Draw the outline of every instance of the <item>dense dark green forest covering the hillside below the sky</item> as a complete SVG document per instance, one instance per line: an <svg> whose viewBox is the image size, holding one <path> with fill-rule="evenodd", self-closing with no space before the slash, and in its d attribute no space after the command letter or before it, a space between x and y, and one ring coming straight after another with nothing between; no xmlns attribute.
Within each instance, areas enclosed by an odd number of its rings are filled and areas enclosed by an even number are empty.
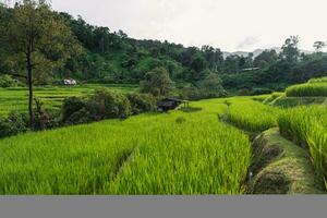
<svg viewBox="0 0 327 218"><path fill-rule="evenodd" d="M12 22L14 8L0 5L0 29L5 32ZM177 87L196 87L213 78L222 81L226 89L242 94L281 90L289 84L327 75L327 55L320 52L323 41L316 41L316 52L301 53L300 38L291 36L282 45L281 52L265 50L257 57L231 55L223 58L219 48L211 46L184 47L168 41L137 40L123 31L111 32L108 27L93 26L81 16L51 12L61 20L77 39L82 52L68 57L64 64L43 68L34 76L34 84L56 84L72 77L85 83L138 84L147 72L165 69ZM2 34L1 34L2 35ZM0 73L22 81L25 65L13 60L7 49L7 39L0 37ZM51 58L56 59L56 55ZM22 81L24 83L24 81Z"/></svg>

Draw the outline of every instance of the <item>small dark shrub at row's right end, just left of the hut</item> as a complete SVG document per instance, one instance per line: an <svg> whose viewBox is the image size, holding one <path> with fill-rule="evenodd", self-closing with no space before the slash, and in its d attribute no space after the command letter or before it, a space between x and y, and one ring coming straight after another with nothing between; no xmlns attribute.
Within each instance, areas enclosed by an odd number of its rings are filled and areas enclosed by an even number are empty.
<svg viewBox="0 0 327 218"><path fill-rule="evenodd" d="M150 94L129 94L128 99L131 104L133 114L152 112L156 110L156 99Z"/></svg>

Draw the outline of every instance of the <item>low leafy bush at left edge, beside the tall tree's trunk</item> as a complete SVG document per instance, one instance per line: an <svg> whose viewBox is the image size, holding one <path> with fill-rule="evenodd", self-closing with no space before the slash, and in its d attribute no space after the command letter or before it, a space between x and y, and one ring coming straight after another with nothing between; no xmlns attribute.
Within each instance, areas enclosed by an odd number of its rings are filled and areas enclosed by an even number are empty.
<svg viewBox="0 0 327 218"><path fill-rule="evenodd" d="M0 118L0 138L26 132L27 114L11 112L8 118Z"/></svg>

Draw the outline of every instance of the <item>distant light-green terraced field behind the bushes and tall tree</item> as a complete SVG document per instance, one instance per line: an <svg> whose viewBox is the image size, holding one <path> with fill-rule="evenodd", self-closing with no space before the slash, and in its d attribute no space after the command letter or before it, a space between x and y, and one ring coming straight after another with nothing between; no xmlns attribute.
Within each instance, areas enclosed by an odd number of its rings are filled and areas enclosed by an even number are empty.
<svg viewBox="0 0 327 218"><path fill-rule="evenodd" d="M74 87L49 86L36 87L35 97L41 99L46 108L56 109L61 107L64 98L70 96L82 96L93 93L100 87L109 87L119 93L130 93L137 87L132 85L80 85ZM27 88L0 88L0 117L11 111L27 111L28 90Z"/></svg>

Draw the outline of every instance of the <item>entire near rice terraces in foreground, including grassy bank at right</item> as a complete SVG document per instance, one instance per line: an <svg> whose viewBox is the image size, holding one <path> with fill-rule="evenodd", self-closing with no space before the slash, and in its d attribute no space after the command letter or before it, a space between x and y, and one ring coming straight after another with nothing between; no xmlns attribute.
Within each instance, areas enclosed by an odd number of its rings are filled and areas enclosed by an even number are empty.
<svg viewBox="0 0 327 218"><path fill-rule="evenodd" d="M300 93L0 140L0 194L324 194L327 109L298 102L327 96Z"/></svg>

